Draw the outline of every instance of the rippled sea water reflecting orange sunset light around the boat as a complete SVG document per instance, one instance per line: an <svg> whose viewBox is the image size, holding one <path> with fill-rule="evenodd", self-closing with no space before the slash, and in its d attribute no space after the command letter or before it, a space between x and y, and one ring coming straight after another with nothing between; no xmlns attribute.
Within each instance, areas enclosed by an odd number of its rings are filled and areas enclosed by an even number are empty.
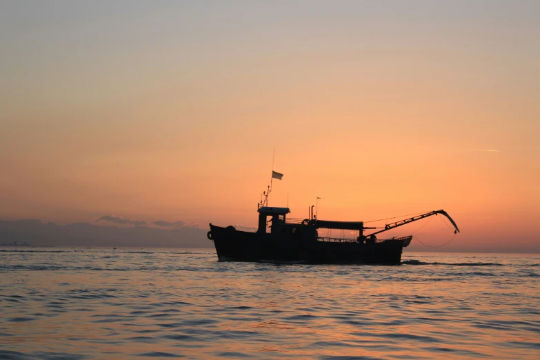
<svg viewBox="0 0 540 360"><path fill-rule="evenodd" d="M540 359L540 254L0 248L0 359Z"/></svg>

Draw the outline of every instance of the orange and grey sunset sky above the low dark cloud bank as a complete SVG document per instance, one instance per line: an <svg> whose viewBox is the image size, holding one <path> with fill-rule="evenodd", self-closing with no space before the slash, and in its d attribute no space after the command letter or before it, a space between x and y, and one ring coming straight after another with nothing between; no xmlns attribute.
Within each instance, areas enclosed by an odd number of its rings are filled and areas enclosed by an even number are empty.
<svg viewBox="0 0 540 360"><path fill-rule="evenodd" d="M0 219L444 209L540 252L538 1L3 1ZM489 151L488 151L489 150ZM408 234L423 223L400 230ZM441 221L417 233L438 245Z"/></svg>

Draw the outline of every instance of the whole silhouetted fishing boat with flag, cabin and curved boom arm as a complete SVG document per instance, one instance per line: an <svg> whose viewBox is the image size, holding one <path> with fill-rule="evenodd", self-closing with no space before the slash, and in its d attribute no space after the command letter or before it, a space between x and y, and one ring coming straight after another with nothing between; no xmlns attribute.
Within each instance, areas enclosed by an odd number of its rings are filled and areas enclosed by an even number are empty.
<svg viewBox="0 0 540 360"><path fill-rule="evenodd" d="M283 174L272 170L272 179ZM259 225L248 232L234 226L215 226L210 223L208 239L214 242L219 261L302 262L302 263L366 263L398 265L403 248L409 246L412 235L378 239L377 235L399 226L443 215L459 232L454 220L444 210L434 210L388 223L381 228L364 226L363 221L319 220L309 209L308 218L288 218L289 208L268 206L268 192L257 204ZM332 236L334 232L334 236Z"/></svg>

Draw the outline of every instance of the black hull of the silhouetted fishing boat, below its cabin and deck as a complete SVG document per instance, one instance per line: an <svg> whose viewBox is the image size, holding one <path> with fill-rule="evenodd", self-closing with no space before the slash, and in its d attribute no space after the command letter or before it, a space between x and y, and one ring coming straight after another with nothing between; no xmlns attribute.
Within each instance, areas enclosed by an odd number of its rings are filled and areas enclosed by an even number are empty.
<svg viewBox="0 0 540 360"><path fill-rule="evenodd" d="M369 263L399 265L409 238L374 243L318 241L316 237L245 232L210 224L219 261ZM408 240L407 240L408 239Z"/></svg>

